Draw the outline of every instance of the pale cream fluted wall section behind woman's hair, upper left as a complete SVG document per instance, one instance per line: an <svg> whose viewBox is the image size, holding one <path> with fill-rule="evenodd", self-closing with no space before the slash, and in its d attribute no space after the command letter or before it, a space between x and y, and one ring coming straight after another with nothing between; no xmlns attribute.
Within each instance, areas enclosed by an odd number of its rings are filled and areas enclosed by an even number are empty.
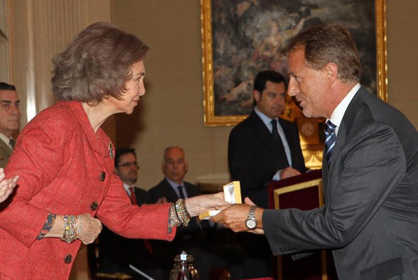
<svg viewBox="0 0 418 280"><path fill-rule="evenodd" d="M40 110L54 103L52 57L88 24L110 21L107 0L8 0L10 78L21 102L23 127ZM111 121L109 134L114 136Z"/></svg>

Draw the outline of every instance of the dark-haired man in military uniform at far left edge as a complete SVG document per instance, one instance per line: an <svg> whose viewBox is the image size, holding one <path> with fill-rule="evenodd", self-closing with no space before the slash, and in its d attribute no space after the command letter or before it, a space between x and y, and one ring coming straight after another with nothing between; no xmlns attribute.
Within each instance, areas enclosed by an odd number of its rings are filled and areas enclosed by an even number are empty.
<svg viewBox="0 0 418 280"><path fill-rule="evenodd" d="M6 167L15 147L12 135L19 129L19 105L15 86L0 82L0 168Z"/></svg>

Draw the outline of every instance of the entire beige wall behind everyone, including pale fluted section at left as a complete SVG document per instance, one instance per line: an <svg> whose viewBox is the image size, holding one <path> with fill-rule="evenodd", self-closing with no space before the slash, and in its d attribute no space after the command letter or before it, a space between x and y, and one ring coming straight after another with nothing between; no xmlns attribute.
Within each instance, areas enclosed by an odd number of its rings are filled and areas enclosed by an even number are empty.
<svg viewBox="0 0 418 280"><path fill-rule="evenodd" d="M15 0L10 18L10 77L22 99L22 126L31 110L53 102L50 92L52 54L85 27L110 20L142 38L151 50L146 58L147 94L134 115L117 116L106 130L118 146L135 147L141 164L139 186L148 189L162 179L164 147L180 145L189 161L191 182L201 175L226 173L230 127L203 125L200 1ZM417 1L387 0L389 103L418 127ZM111 16L110 16L111 13ZM33 106L26 106L28 101Z"/></svg>

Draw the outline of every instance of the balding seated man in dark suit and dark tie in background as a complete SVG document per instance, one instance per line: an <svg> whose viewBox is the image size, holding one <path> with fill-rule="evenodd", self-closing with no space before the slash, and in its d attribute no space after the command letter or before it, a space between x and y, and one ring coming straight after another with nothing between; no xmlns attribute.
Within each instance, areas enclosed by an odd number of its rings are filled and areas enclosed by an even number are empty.
<svg viewBox="0 0 418 280"><path fill-rule="evenodd" d="M165 177L149 190L152 202L176 202L179 198L201 195L197 186L184 181L189 166L182 148L165 149L161 168ZM173 268L174 257L185 250L194 256L194 266L199 270L201 279L208 279L211 260L208 253L202 250L205 246L203 228L208 228L208 221L199 223L197 219L191 219L189 226L177 228L173 241L153 240L155 256L163 263L167 274Z"/></svg>

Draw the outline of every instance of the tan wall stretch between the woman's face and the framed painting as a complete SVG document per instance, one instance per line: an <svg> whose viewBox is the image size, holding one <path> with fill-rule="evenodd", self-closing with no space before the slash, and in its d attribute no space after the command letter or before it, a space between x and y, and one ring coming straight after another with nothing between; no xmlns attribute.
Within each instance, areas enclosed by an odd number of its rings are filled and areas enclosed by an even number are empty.
<svg viewBox="0 0 418 280"><path fill-rule="evenodd" d="M137 149L137 185L148 189L160 182L162 152L169 145L185 149L190 182L199 175L228 172L231 128L203 125L200 2L113 1L112 6L114 23L150 46L147 92L140 102L144 110L116 117L117 145Z"/></svg>

